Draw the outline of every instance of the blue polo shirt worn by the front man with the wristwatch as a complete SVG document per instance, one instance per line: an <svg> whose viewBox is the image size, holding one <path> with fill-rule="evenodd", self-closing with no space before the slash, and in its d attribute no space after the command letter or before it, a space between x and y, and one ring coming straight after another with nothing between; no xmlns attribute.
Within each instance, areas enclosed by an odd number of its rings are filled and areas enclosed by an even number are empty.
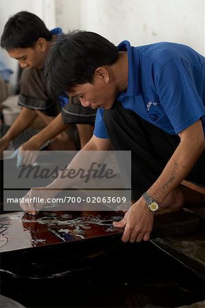
<svg viewBox="0 0 205 308"><path fill-rule="evenodd" d="M191 47L159 42L131 47L128 52L128 88L116 100L144 120L169 134L177 134L202 118L205 134L205 57ZM94 135L109 138L104 108L98 109Z"/></svg>

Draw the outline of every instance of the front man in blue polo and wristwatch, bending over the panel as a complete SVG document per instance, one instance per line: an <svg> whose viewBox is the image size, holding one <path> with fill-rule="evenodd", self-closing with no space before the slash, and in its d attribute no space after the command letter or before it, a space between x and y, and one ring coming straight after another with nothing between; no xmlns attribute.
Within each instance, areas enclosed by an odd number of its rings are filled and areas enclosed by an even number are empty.
<svg viewBox="0 0 205 308"><path fill-rule="evenodd" d="M69 68L63 76L61 64ZM204 57L182 44L115 47L98 34L73 31L55 42L46 73L53 96L66 90L84 107L98 108L84 150L132 151L136 202L114 225L124 227L124 242L148 240L159 206L183 205L183 179L205 185ZM65 188L66 179L57 185Z"/></svg>

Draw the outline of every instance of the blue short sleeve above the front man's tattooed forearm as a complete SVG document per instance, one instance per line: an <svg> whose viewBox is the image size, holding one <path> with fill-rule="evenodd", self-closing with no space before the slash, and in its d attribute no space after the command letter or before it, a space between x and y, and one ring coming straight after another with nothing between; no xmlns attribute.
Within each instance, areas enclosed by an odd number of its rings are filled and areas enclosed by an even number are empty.
<svg viewBox="0 0 205 308"><path fill-rule="evenodd" d="M156 74L156 89L161 105L176 133L205 114L202 76L200 66L180 57L169 60Z"/></svg>

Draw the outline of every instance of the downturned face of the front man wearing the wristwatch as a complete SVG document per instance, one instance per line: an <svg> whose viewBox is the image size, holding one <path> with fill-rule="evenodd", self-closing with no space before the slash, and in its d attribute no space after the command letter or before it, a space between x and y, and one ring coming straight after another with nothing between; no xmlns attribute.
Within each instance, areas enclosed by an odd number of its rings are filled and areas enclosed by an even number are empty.
<svg viewBox="0 0 205 308"><path fill-rule="evenodd" d="M69 97L78 97L83 107L93 109L110 109L115 102L118 91L112 83L105 84L102 79L97 79L94 84L79 84L74 86L72 92L68 92Z"/></svg>

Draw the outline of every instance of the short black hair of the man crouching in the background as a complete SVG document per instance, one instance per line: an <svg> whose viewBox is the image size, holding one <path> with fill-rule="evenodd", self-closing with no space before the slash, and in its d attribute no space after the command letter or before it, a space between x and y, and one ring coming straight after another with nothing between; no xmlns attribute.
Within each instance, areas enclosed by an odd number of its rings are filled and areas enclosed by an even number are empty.
<svg viewBox="0 0 205 308"><path fill-rule="evenodd" d="M1 47L7 51L14 48L32 48L38 38L51 41L52 34L35 14L18 12L5 24L1 36Z"/></svg>

